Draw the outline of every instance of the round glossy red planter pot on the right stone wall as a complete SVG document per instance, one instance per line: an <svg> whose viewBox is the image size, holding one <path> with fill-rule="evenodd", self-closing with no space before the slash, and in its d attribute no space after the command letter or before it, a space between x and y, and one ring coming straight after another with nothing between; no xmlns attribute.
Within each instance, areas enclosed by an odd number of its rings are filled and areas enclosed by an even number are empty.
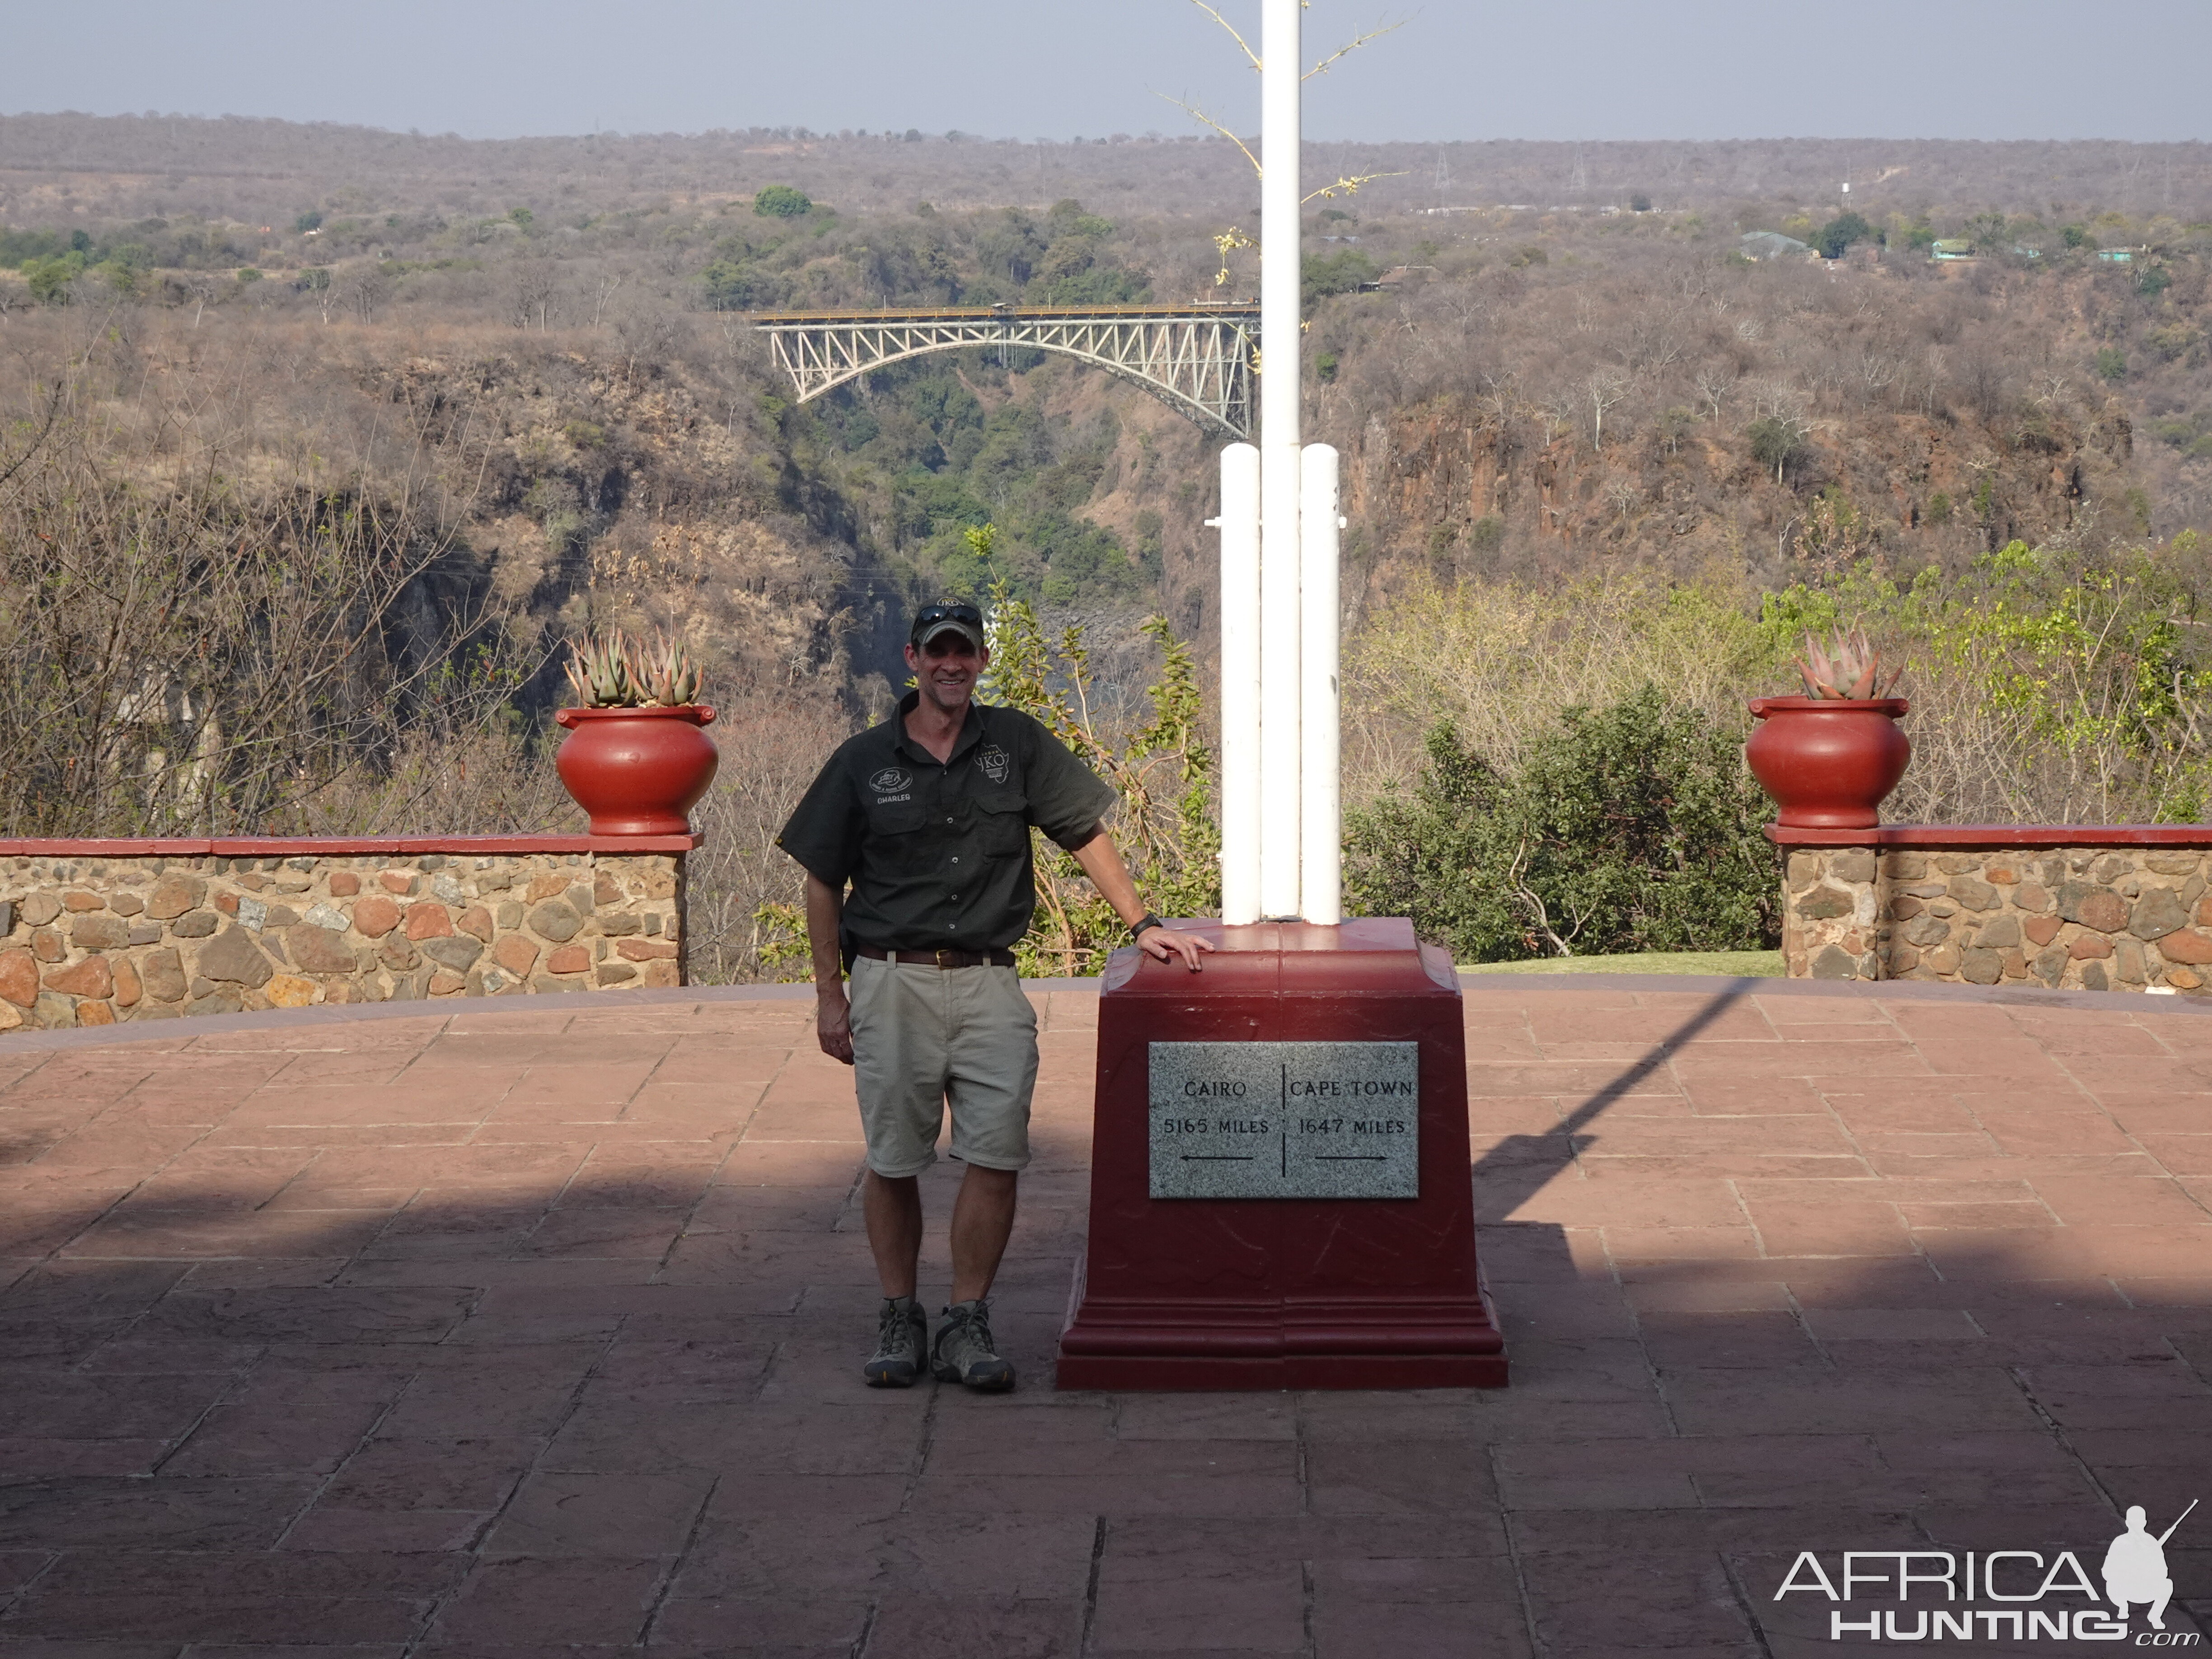
<svg viewBox="0 0 2212 1659"><path fill-rule="evenodd" d="M1754 697L1743 759L1785 830L1871 830L1913 757L1902 697Z"/></svg>

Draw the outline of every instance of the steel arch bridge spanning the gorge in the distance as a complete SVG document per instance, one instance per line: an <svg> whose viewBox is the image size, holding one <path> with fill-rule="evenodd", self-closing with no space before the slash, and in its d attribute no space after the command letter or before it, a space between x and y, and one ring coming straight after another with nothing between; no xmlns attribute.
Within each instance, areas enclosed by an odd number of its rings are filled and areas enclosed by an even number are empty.
<svg viewBox="0 0 2212 1659"><path fill-rule="evenodd" d="M1135 380L1225 438L1252 438L1259 305L947 305L885 312L757 312L799 403L869 369L967 345L1060 352Z"/></svg>

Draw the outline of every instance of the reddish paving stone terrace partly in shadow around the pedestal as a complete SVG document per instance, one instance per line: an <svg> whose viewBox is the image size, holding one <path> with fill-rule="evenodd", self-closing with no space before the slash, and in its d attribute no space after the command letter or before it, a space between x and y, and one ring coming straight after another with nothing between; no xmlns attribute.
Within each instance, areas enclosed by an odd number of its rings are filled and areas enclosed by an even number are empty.
<svg viewBox="0 0 2212 1659"><path fill-rule="evenodd" d="M2181 998L1484 978L1513 1387L1219 1396L1051 1389L1097 1004L1037 1000L1011 1398L858 1385L807 1000L0 1040L0 1655L1832 1655L1798 1551L2095 1575L2212 1498ZM2168 1559L2203 1630L2203 1509Z"/></svg>

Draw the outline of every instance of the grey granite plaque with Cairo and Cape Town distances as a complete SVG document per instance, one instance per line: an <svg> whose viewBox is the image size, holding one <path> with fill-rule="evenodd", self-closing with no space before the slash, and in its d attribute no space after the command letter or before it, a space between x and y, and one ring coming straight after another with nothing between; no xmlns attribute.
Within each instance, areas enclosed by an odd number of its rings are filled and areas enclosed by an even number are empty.
<svg viewBox="0 0 2212 1659"><path fill-rule="evenodd" d="M1418 1042L1155 1042L1155 1199L1418 1199Z"/></svg>

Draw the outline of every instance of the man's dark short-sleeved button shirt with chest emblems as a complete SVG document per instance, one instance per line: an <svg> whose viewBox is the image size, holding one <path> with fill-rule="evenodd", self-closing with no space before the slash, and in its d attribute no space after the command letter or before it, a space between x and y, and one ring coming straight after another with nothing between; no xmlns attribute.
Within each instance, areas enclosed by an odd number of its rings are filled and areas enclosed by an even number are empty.
<svg viewBox="0 0 2212 1659"><path fill-rule="evenodd" d="M847 739L776 845L845 902L847 945L995 951L1029 931L1035 825L1073 852L1115 792L1066 743L1013 708L969 703L951 759L907 737L898 712Z"/></svg>

